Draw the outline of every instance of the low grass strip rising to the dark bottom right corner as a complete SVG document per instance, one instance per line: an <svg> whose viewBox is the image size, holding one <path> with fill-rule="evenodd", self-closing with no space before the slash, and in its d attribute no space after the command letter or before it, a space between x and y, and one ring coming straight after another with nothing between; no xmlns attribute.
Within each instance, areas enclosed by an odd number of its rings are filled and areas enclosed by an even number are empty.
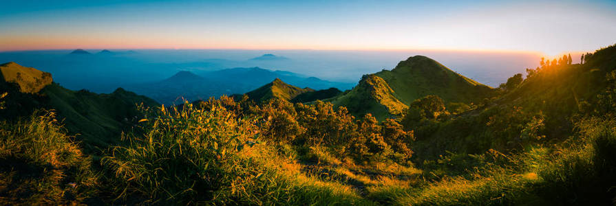
<svg viewBox="0 0 616 206"><path fill-rule="evenodd" d="M616 124L586 119L578 126L580 133L555 148L531 148L508 163L492 161L419 187L374 187L370 198L394 205L613 204Z"/></svg>

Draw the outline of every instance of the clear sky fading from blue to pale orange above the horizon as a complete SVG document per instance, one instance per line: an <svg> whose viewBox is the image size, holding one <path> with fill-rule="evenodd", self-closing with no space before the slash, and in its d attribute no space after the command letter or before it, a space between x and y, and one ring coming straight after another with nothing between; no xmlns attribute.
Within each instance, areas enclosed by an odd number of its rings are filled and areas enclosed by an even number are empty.
<svg viewBox="0 0 616 206"><path fill-rule="evenodd" d="M616 1L5 1L0 51L538 52L616 43Z"/></svg>

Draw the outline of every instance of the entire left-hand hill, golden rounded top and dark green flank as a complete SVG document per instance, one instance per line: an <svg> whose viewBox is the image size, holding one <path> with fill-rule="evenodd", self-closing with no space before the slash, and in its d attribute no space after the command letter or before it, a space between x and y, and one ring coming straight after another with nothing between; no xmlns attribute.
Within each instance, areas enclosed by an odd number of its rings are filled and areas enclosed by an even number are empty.
<svg viewBox="0 0 616 206"><path fill-rule="evenodd" d="M77 135L88 152L118 142L122 130L138 120L136 104L158 105L121 88L110 94L71 91L54 84L50 73L14 62L3 64L0 69L5 80L0 82L0 93L8 93L2 99L6 109L0 110L0 119L18 119L36 109L53 109L58 115L56 119L63 121L69 133Z"/></svg>

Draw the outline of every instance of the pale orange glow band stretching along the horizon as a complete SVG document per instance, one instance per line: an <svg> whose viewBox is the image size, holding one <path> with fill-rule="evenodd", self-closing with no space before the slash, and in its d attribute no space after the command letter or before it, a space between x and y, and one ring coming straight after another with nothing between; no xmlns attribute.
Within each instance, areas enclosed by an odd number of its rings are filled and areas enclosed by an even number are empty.
<svg viewBox="0 0 616 206"><path fill-rule="evenodd" d="M155 42L155 43L152 43ZM363 45L332 46L321 43L315 45L288 44L287 43L223 43L215 41L169 41L167 39L141 38L127 40L120 38L65 38L54 36L14 36L0 39L0 52L31 51L31 50L59 50L59 49L237 49L237 50L326 50L326 51L431 51L431 52L477 52L477 53L522 53L536 56L546 56L542 52L506 50L506 49L451 49L451 48L422 48L422 47L370 47ZM290 46L292 45L292 46ZM573 54L574 52L571 52ZM584 53L584 52L575 52ZM562 54L560 55L562 56Z"/></svg>

